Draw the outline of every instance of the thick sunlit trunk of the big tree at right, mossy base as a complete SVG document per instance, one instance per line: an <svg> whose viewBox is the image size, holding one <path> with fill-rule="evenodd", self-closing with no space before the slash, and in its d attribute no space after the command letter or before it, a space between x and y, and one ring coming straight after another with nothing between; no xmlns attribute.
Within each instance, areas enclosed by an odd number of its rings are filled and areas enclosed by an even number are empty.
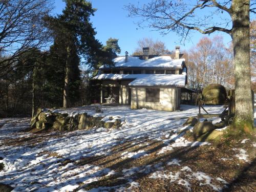
<svg viewBox="0 0 256 192"><path fill-rule="evenodd" d="M246 133L253 131L253 107L250 89L249 3L248 0L233 0L231 14L236 89L234 127Z"/></svg>

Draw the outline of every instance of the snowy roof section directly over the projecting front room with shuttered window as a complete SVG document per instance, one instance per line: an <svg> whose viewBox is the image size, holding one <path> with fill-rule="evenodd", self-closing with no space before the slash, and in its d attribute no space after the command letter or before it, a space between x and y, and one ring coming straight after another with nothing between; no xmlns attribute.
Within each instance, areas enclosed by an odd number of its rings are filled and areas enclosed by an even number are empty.
<svg viewBox="0 0 256 192"><path fill-rule="evenodd" d="M185 86L186 75L150 75L137 78L129 86Z"/></svg>

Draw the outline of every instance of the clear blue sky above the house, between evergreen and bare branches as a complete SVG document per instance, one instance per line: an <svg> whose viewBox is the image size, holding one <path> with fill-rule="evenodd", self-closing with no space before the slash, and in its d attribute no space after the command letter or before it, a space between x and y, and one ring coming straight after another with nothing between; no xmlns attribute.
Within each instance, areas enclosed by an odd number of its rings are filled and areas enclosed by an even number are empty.
<svg viewBox="0 0 256 192"><path fill-rule="evenodd" d="M96 28L96 38L99 39L102 44L109 37L118 38L119 46L121 48L121 54L124 55L125 51L132 54L137 47L137 41L143 37L151 37L153 39L161 40L165 42L167 49L174 50L176 45L180 45L179 36L175 33L169 33L162 36L159 31L150 31L150 29L137 29L134 24L135 19L127 17L127 11L124 10L124 5L129 3L137 4L138 1L132 0L92 0L93 8L96 8L95 16L91 17L93 27ZM146 3L146 0L141 0L140 4ZM65 3L62 0L55 0L54 14L61 13L61 10L65 7ZM222 35L224 37L225 44L231 41L229 35L218 32L211 34ZM185 42L185 46L181 46L181 50L189 50L197 44L199 39L203 37L199 32L191 33L191 40ZM208 36L208 35L207 35Z"/></svg>

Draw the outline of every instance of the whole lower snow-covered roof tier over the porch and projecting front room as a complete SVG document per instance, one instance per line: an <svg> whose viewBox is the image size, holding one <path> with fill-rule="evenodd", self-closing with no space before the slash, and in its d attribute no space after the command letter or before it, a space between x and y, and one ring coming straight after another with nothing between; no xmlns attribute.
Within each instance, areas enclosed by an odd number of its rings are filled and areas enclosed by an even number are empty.
<svg viewBox="0 0 256 192"><path fill-rule="evenodd" d="M166 74L101 74L93 79L121 80L135 79L129 86L185 86L186 75Z"/></svg>

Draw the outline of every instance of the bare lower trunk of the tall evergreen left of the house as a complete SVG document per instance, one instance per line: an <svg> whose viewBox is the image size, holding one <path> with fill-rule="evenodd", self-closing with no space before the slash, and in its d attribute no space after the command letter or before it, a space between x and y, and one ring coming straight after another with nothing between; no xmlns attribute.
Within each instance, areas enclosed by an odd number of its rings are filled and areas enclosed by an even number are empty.
<svg viewBox="0 0 256 192"><path fill-rule="evenodd" d="M63 108L68 108L70 105L69 99L69 81L70 81L70 65L71 65L71 49L67 47L67 60L66 60L66 75L65 75L65 84L63 89Z"/></svg>

